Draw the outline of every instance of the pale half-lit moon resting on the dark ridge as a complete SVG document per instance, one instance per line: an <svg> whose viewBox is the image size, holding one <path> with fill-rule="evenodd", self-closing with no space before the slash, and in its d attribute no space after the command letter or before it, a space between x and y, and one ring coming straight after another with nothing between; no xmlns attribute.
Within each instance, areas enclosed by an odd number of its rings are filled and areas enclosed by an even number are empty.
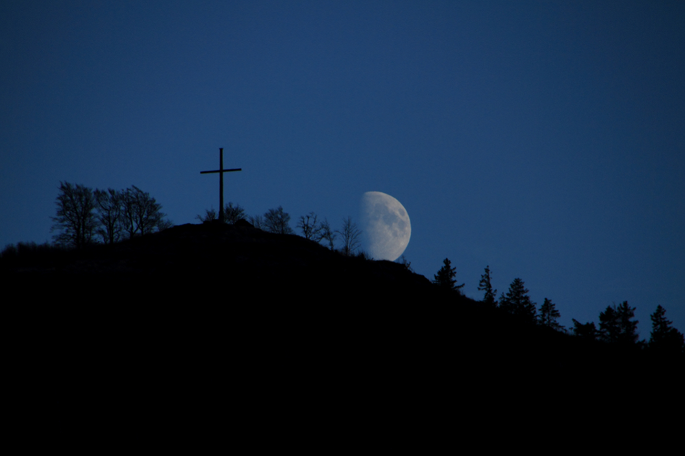
<svg viewBox="0 0 685 456"><path fill-rule="evenodd" d="M402 203L383 192L366 192L360 202L364 247L374 259L394 262L409 244L412 224Z"/></svg>

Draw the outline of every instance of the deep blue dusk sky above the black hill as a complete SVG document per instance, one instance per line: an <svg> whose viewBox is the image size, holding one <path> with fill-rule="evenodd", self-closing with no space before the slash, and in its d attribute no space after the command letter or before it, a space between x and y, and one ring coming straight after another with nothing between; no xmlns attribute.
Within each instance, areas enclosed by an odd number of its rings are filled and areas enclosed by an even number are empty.
<svg viewBox="0 0 685 456"><path fill-rule="evenodd" d="M176 224L225 201L336 227L406 207L429 279L685 331L682 1L3 1L0 247L51 240L60 181Z"/></svg>

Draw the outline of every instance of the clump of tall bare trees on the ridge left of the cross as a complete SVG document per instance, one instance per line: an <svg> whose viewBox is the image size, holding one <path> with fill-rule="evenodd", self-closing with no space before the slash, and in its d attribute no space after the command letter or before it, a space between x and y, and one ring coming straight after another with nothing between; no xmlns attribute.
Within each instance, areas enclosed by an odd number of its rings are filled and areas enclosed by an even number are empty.
<svg viewBox="0 0 685 456"><path fill-rule="evenodd" d="M82 247L101 242L113 244L173 226L162 205L136 186L124 190L99 190L60 182L55 201L57 214L51 231L55 244Z"/></svg>

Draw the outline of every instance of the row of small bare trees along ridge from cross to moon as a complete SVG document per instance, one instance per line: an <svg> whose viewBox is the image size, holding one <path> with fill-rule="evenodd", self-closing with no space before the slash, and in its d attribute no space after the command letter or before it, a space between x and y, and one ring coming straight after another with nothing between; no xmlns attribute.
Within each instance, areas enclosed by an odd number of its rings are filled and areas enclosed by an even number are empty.
<svg viewBox="0 0 685 456"><path fill-rule="evenodd" d="M294 234L290 227L290 214L284 212L283 207L269 209L264 214L247 215L245 208L239 204L227 203L223 210L224 223L235 224L238 220L247 220L253 227L269 231L270 233ZM207 209L205 215L197 215L201 222L219 220L216 210ZM343 218L340 229L333 229L326 218L319 220L314 212L300 216L297 220L297 229L303 238L324 244L332 251L338 251L343 255L361 255L369 257L364 251L360 251L362 231L350 216ZM338 242L336 243L336 240ZM336 248L336 245L338 247Z"/></svg>

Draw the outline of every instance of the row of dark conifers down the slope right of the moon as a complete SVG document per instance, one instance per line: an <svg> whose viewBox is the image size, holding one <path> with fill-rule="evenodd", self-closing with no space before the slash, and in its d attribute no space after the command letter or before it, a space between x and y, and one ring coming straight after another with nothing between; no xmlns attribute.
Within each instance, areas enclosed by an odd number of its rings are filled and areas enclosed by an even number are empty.
<svg viewBox="0 0 685 456"><path fill-rule="evenodd" d="M434 275L436 285L447 290L461 294L464 283L457 285L456 268L451 267L449 259L443 260L443 267ZM524 286L523 280L516 278L509 286L508 292L502 293L499 299L497 290L493 289L490 283L490 266L486 266L485 273L481 275L478 290L484 292L482 303L493 309L510 314L528 323L542 325L562 331L573 333L573 335L586 340L606 342L608 344L618 344L634 349L648 349L653 353L664 355L685 355L685 336L677 329L672 327L673 322L667 320L666 309L661 305L656 307L656 311L651 314L652 330L649 342L638 340L638 320L635 320L636 307L630 307L627 301L620 305L607 306L599 314L599 328L594 322L581 323L573 318L573 329L566 330L557 320L561 314L556 309L556 305L550 299L545 298L545 302L538 309Z"/></svg>

